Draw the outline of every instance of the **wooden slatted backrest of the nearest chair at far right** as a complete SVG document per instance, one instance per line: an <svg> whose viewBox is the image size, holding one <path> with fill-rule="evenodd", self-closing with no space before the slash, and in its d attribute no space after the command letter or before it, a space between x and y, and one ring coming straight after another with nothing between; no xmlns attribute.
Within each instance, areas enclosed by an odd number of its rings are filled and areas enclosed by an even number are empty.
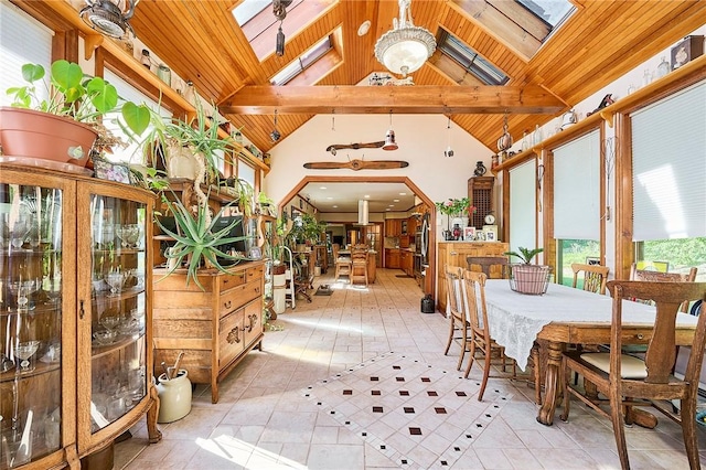
<svg viewBox="0 0 706 470"><path fill-rule="evenodd" d="M610 339L610 371L611 374L620 376L620 354L622 343L622 309L623 300L631 298L650 299L654 302L656 314L654 319L654 330L644 362L648 368L646 384L666 384L676 360L676 318L680 313L680 306L687 300L706 300L706 282L662 282L662 281L639 281L639 280L611 280L608 281L608 290L613 298L613 316L611 323ZM686 366L684 381L688 382L695 394L698 388L698 376L702 370L704 357L704 345L706 343L706 316L699 316L696 325L694 342ZM634 380L631 380L634 381ZM631 388L631 396L643 396L634 394L643 388ZM695 395L694 395L695 396ZM689 419L693 419L691 417Z"/></svg>

